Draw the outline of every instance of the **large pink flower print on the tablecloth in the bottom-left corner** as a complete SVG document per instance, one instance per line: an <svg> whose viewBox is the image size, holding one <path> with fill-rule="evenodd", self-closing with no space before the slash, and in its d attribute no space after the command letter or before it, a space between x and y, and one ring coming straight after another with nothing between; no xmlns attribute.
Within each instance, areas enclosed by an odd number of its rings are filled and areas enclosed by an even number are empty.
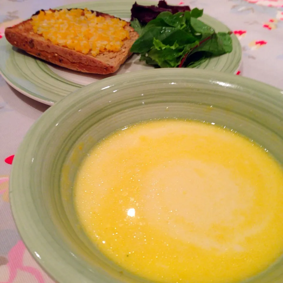
<svg viewBox="0 0 283 283"><path fill-rule="evenodd" d="M34 261L22 241L9 251L8 263L0 266L0 283L18 282L54 283Z"/></svg>

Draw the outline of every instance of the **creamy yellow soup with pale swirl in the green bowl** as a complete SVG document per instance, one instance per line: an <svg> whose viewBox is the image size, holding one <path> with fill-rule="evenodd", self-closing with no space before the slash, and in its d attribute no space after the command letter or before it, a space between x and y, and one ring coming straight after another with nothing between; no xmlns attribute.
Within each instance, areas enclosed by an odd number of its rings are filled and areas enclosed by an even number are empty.
<svg viewBox="0 0 283 283"><path fill-rule="evenodd" d="M282 168L219 126L125 127L89 153L74 195L101 252L152 281L236 282L283 251Z"/></svg>

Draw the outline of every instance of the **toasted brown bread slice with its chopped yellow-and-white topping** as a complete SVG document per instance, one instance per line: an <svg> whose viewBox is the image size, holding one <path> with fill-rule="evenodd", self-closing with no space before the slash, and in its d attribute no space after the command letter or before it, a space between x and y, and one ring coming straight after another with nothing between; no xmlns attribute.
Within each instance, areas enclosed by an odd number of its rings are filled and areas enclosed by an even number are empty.
<svg viewBox="0 0 283 283"><path fill-rule="evenodd" d="M131 55L138 33L130 23L88 9L40 10L5 30L11 45L83 73L110 74Z"/></svg>

